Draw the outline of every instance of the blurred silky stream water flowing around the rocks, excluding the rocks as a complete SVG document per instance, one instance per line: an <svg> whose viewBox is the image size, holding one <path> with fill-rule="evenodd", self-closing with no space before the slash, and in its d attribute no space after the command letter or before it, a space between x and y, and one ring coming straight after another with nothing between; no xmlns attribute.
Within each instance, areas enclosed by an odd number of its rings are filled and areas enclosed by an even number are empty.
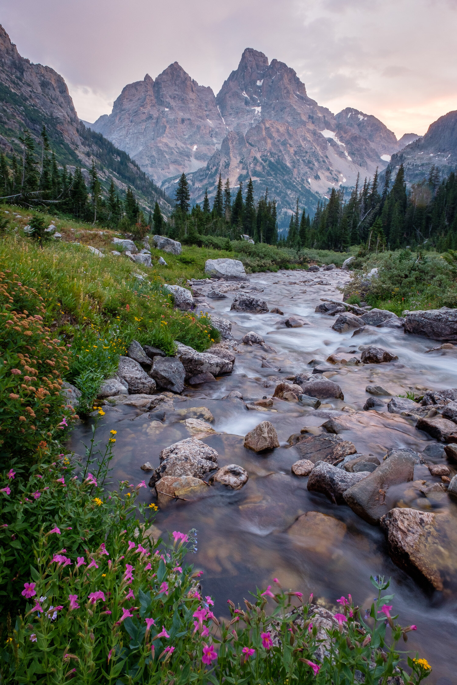
<svg viewBox="0 0 457 685"><path fill-rule="evenodd" d="M395 395L405 396L408 391L422 395L425 389L457 387L455 352L426 352L439 343L405 335L401 328L370 328L354 337L352 331L338 334L332 330L333 317L315 314L321 298L341 299L337 288L348 278L349 274L340 269L312 275L305 271L252 275L251 286L264 288L254 295L265 299L270 309L279 307L284 316L231 312L232 295L236 292L227 292L227 299L211 300L214 314L232 322L234 338L240 340L246 332L254 330L274 351L259 345L239 344L232 375L197 389L185 388L183 396L176 397L175 409L208 408L215 419L216 433L201 439L217 450L219 466L239 464L249 473L249 481L238 491L208 488L206 497L197 501L172 501L160 508L153 531L157 535L168 530L197 529L198 551L191 561L204 571L203 593L212 595L216 613L221 616L227 614L227 599L242 603L243 598L249 597L249 590L273 584L273 577L279 578L283 587L300 590L305 595L314 593L314 599L319 598L329 607L337 597L349 592L364 609L369 608L375 594L370 574L391 577L394 608L400 614L402 625L417 625L417 632L409 634L404 647L419 651L432 664L433 673L428 682L455 684L456 596L421 589L393 564L379 527L369 525L347 506L334 505L324 495L308 492L307 479L291 473L291 464L301 457L295 447L289 447L288 437L304 427L311 434L319 432L319 426L325 421L323 410L341 410L345 406L356 410L358 413L352 414L356 416L354 428L345 431L343 438L351 440L359 453L371 453L380 460L391 447L411 447L421 452L434 442L415 429L412 421L389 414L385 408L363 412L362 406L369 397L365 392L367 384L380 384ZM208 292L208 286L201 289L203 295ZM312 325L286 328L283 322L291 314L306 316ZM330 354L338 351L360 357L358 347L368 344L388 349L398 356L398 361L367 366L336 365L332 380L341 386L345 400L326 401L318 412L282 400L275 400L271 410L258 412L247 410L240 401L222 399L230 390L239 390L245 401L264 395L271 397L276 381L269 380L269 376L285 377L309 371L308 362L325 362ZM171 415L160 423L126 406L107 410L97 438L104 443L110 429L117 431L112 462L114 481L126 479L136 484L145 476L148 478L140 466L146 461L158 466L159 453L164 447L190 436L180 419L182 416ZM243 447L245 434L260 421L273 423L281 445L265 456ZM69 447L84 453L81 440L87 442L89 435L90 422L80 424L73 432ZM430 477L426 466L417 466L417 479L430 484L439 482ZM142 489L140 493L145 502L156 501L155 490ZM398 486L392 493L389 490L388 496L394 503L419 510L446 508L457 523L457 506L449 502L445 493L426 498L409 484ZM332 516L328 520L330 525L301 538L291 536L288 528L305 512Z"/></svg>

